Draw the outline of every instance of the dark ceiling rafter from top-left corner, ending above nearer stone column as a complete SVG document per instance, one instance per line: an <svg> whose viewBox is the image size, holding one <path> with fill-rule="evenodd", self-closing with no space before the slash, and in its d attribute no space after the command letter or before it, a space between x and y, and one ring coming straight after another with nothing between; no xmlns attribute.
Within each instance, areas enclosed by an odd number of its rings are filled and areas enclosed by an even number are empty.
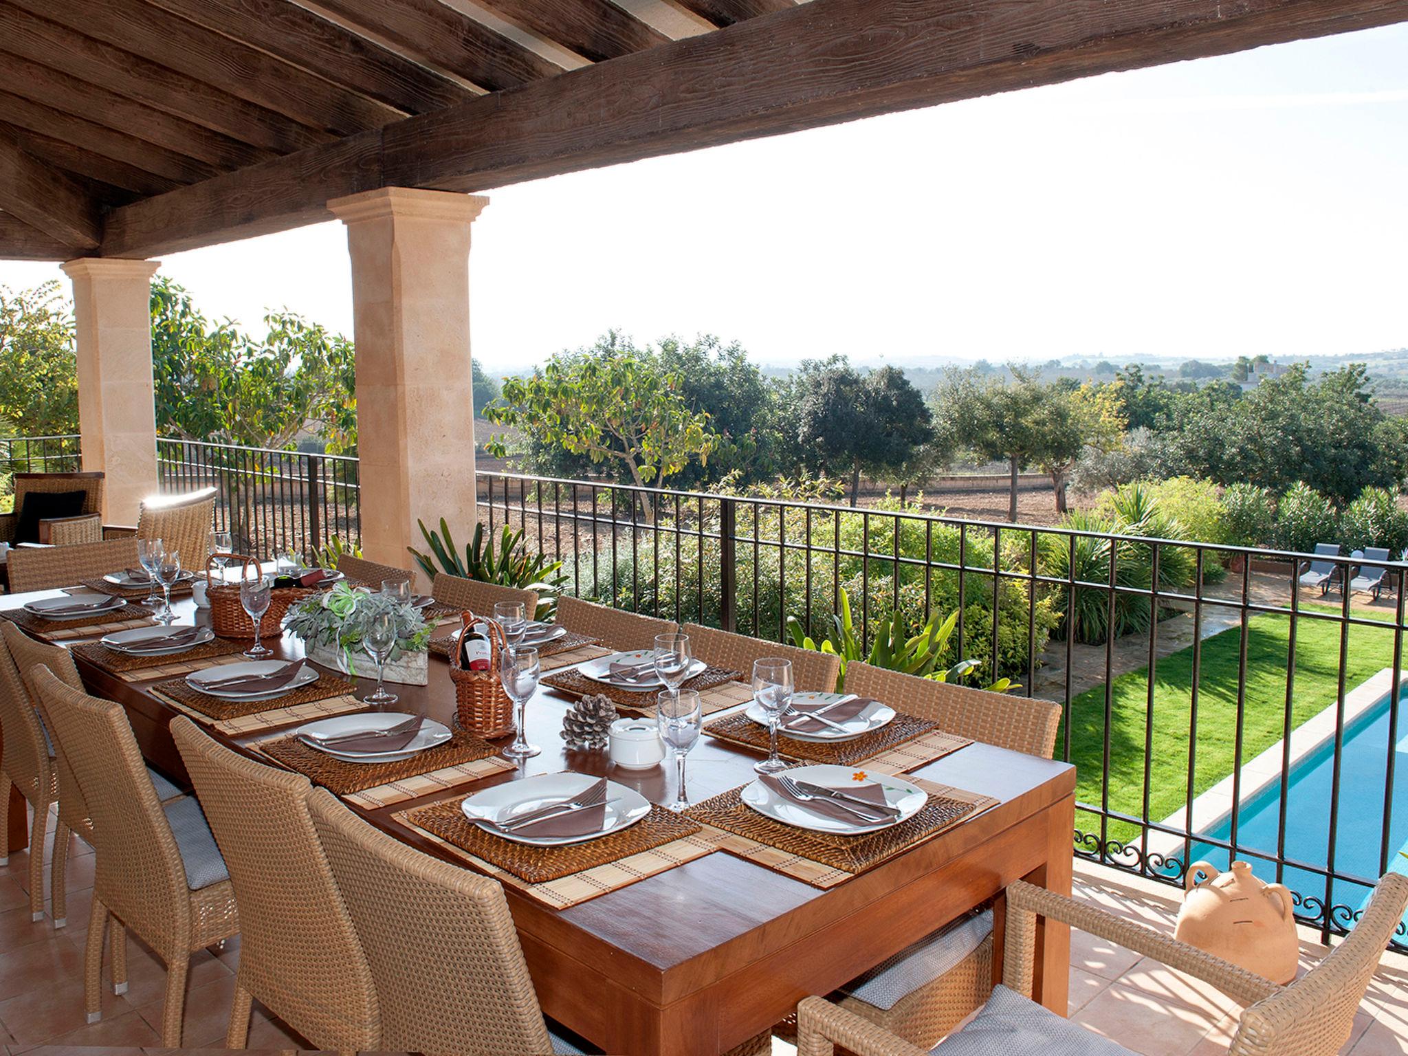
<svg viewBox="0 0 1408 1056"><path fill-rule="evenodd" d="M141 0L10 0L308 128L351 135L404 117L384 103L315 77L256 48L187 23Z"/></svg>

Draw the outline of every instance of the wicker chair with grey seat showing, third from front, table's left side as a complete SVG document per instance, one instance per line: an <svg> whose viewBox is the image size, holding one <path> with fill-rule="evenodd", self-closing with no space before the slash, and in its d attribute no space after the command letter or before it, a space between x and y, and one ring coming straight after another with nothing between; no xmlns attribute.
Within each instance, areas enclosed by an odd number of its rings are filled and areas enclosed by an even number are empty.
<svg viewBox="0 0 1408 1056"><path fill-rule="evenodd" d="M113 943L114 990L127 988L121 939L131 931L166 963L162 1048L179 1049L191 955L239 934L225 862L193 797L161 803L120 704L65 686L48 667L37 667L32 679L93 819L87 1021L103 1015L103 932L111 917L121 925Z"/></svg>

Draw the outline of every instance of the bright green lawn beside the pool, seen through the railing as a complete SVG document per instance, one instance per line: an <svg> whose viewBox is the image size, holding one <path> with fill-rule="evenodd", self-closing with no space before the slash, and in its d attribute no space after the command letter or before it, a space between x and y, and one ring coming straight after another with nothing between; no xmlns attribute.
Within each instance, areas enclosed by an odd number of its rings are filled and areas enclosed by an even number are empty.
<svg viewBox="0 0 1408 1056"><path fill-rule="evenodd" d="M1304 605L1302 611L1338 612L1338 607ZM1356 612L1359 615L1359 612ZM1387 618L1373 614L1373 618ZM1295 624L1295 691L1291 727L1297 727L1335 701L1339 676L1339 624L1301 617ZM1232 773L1236 746L1236 687L1239 628L1202 643L1198 679L1198 743L1193 794L1205 791ZM1246 719L1242 760L1253 759L1281 739L1290 618L1253 617L1246 649ZM1354 689L1374 672L1393 663L1393 632L1370 627L1349 628L1349 663L1345 689ZM1187 801L1188 727L1193 697L1193 646L1171 653L1155 666L1153 750L1149 762L1149 818L1160 821ZM1149 669L1122 674L1114 683L1110 724L1110 808L1139 817L1143 810L1143 746ZM1100 777L1105 732L1105 690L1088 690L1071 701L1070 758L1079 767L1077 800L1100 804ZM1064 727L1056 739L1062 752ZM1100 818L1077 811L1076 828L1098 832ZM1110 835L1128 841L1138 826L1111 822Z"/></svg>

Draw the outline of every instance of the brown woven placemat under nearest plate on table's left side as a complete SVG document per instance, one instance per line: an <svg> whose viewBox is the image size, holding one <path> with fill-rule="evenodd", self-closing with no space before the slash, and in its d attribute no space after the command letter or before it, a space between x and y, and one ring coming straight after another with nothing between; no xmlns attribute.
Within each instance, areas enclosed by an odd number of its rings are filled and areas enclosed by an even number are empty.
<svg viewBox="0 0 1408 1056"><path fill-rule="evenodd" d="M434 832L460 850L466 850L529 884L560 880L573 873L620 862L631 855L673 843L701 831L697 822L674 811L650 807L650 812L635 825L608 836L566 846L532 848L496 836L479 825L470 824L459 807L463 801L465 797L460 796L415 807L406 811L406 818L417 828Z"/></svg>

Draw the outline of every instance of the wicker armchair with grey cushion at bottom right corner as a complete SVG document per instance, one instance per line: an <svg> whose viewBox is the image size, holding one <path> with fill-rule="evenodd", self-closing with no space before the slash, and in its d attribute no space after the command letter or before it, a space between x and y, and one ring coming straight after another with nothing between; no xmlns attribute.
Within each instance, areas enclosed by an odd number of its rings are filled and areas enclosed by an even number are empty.
<svg viewBox="0 0 1408 1056"><path fill-rule="evenodd" d="M1349 1038L1369 980L1408 905L1408 877L1384 876L1349 936L1315 967L1278 986L1195 946L1086 903L1018 880L1007 888L1008 919L1062 921L1215 986L1240 1005L1232 1056L1333 1056ZM983 1011L949 1035L934 1056L1128 1056L1129 1049L1087 1032L1031 1000L1035 926L1010 929L1002 986ZM798 1056L928 1056L929 1050L819 997L797 1007Z"/></svg>

